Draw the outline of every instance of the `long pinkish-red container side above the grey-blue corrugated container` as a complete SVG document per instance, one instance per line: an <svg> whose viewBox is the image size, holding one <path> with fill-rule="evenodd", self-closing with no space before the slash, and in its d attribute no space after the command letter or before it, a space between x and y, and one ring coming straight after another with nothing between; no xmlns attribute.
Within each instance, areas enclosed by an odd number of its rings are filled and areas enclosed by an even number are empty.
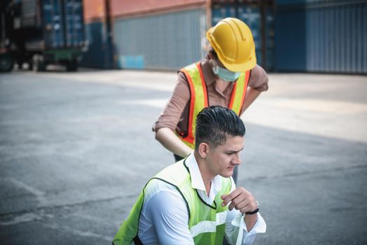
<svg viewBox="0 0 367 245"><path fill-rule="evenodd" d="M139 13L151 13L155 10L182 8L186 6L204 6L209 0L111 0L111 15L123 16Z"/></svg>

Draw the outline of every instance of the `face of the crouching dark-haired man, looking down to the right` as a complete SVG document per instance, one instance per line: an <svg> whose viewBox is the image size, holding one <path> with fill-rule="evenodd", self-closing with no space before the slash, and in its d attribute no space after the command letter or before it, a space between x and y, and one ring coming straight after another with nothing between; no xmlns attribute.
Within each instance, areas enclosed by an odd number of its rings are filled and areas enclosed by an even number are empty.
<svg viewBox="0 0 367 245"><path fill-rule="evenodd" d="M212 174L228 178L236 165L241 164L240 152L244 148L244 137L228 137L226 142L215 148L209 147L207 163Z"/></svg>

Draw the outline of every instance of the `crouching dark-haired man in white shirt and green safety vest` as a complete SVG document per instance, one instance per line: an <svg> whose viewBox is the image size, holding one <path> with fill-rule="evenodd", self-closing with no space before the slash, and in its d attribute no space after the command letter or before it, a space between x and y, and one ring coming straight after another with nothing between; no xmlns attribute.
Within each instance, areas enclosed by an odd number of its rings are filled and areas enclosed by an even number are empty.
<svg viewBox="0 0 367 245"><path fill-rule="evenodd" d="M148 181L113 244L252 244L266 224L255 197L232 179L244 133L230 109L203 109L195 151Z"/></svg>

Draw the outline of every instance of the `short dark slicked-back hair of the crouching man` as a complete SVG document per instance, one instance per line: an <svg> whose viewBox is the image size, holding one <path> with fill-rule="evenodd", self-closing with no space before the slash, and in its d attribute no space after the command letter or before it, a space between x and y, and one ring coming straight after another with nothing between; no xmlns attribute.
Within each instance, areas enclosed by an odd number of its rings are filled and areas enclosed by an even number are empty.
<svg viewBox="0 0 367 245"><path fill-rule="evenodd" d="M227 137L243 137L245 132L244 123L234 111L210 106L202 109L196 118L195 148L203 142L216 147L224 144Z"/></svg>

